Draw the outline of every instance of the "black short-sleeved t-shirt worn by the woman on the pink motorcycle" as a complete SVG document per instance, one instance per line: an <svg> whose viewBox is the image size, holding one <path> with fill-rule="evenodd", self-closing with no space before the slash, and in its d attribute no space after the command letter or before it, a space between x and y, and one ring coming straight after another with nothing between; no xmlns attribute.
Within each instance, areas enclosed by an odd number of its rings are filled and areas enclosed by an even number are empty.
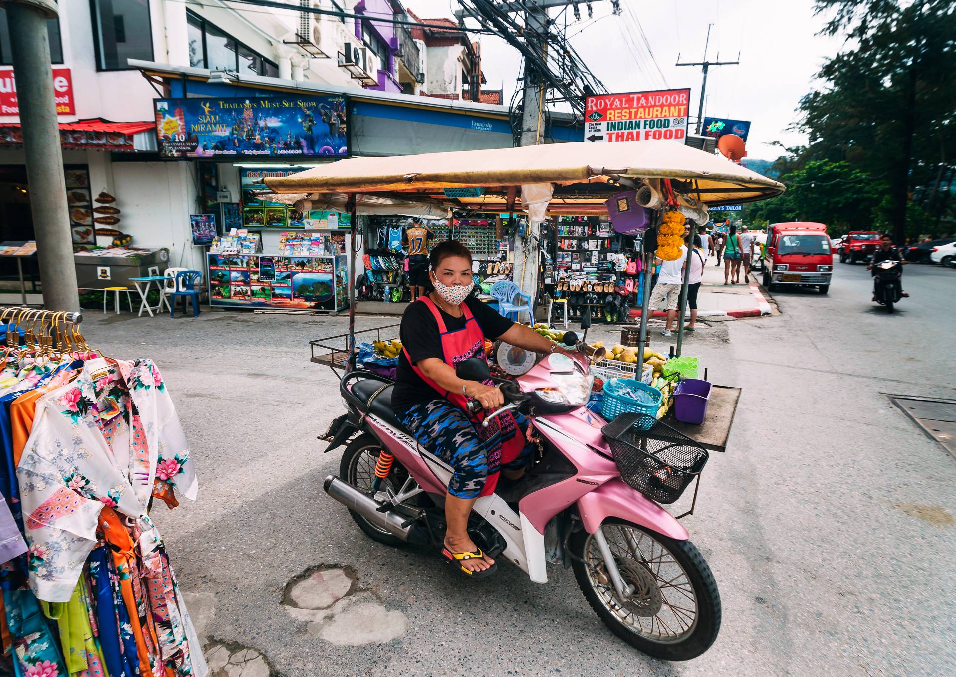
<svg viewBox="0 0 956 677"><path fill-rule="evenodd" d="M474 296L468 296L465 299L465 305L478 322L478 326L481 327L486 339L499 338L514 324L510 319L500 316L493 308L482 303ZM445 320L446 331L453 332L465 328L464 315L462 317L451 317L441 308L438 312L442 314L442 319ZM427 358L445 360L445 355L442 352L442 339L438 333L438 322L435 321L435 316L428 310L424 301L415 301L405 309L399 338L402 339L402 346L408 351L412 362L426 360ZM402 351L399 355L395 389L392 392L392 408L396 412L403 413L415 404L434 400L437 397L441 397L439 392L415 373L411 362L405 358L405 353Z"/></svg>

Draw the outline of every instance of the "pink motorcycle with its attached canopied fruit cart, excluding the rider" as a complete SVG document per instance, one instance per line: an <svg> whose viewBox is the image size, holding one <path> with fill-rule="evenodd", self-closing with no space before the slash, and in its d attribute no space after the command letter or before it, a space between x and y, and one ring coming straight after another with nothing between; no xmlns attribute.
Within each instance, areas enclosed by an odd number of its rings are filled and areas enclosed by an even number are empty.
<svg viewBox="0 0 956 677"><path fill-rule="evenodd" d="M616 229L643 233L641 348L647 333L651 257L678 259L684 222L706 223L707 204L757 200L784 189L723 158L673 142L563 143L362 158L267 179L267 185L274 191L269 199L283 194L308 201L344 198L353 217L361 213L359 198L368 195L393 201L393 212L397 206L485 213L523 210L532 227L549 212L609 211ZM467 197L463 189L469 187L483 190ZM449 197L446 188L454 188L458 197ZM355 251L350 255L354 260ZM350 293L354 295L354 289ZM359 360L354 313L350 310L344 349L324 362L347 370L339 388L347 411L321 438L330 442L326 450L346 446L339 476L326 477L323 488L380 543L418 543L443 552L445 496L453 469L409 437L391 405L394 382L367 368L354 368ZM582 329L589 325L585 315ZM455 365L459 379L500 387L505 404L486 414L481 428L509 410L527 416L526 440L534 461L521 479L510 486L492 485L493 491L475 499L468 534L481 554L474 557L488 553L537 583L548 582L549 562L572 568L591 607L625 642L659 658L694 658L716 639L722 604L704 557L678 521L693 512L693 502L677 516L663 505L676 502L691 483L696 483L696 502L707 450L727 447L740 389L715 388L706 379L691 378L697 376L696 360L680 355L657 360L653 351L641 350L640 359L628 355L618 360L632 364L641 380L609 378L599 393L598 415L590 401L595 379L588 364L597 361L593 370L610 369L600 362L606 349L588 345L571 332L555 336L546 326L535 329L580 352L569 356L550 351L536 361L502 343L497 367L507 375L495 376L488 362L477 358L480 347L475 345L468 353L472 357ZM393 359L400 349L394 343L381 348ZM615 352L622 354L612 349ZM651 367L650 384L642 380L645 363ZM523 371L509 369L515 366ZM462 406L481 416L481 406L475 404L465 400ZM462 558L446 551L445 557ZM685 586L683 592L674 593L679 586ZM672 594L682 597L668 597Z"/></svg>

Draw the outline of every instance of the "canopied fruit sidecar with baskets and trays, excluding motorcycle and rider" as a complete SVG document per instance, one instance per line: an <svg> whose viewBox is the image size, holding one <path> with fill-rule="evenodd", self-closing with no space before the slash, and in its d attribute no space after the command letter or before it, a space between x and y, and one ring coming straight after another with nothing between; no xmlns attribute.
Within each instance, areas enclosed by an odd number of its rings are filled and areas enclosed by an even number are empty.
<svg viewBox="0 0 956 677"><path fill-rule="evenodd" d="M609 388L610 405L592 406L606 418L629 411L666 416L669 425L703 448L724 451L740 399L740 388L711 385L700 380L696 358L681 355L684 322L678 322L676 351L670 359L655 353L647 339L651 273L654 257L673 260L680 255L684 223L690 238L706 224L707 207L739 205L765 200L784 192L772 179L728 161L721 155L675 142L551 143L518 148L427 153L387 158L353 158L325 164L286 177L267 178L269 199L302 208L348 211L352 223L358 216L402 213L443 218L451 210L481 213L526 212L538 223L554 215L608 215L615 229L642 233L641 271L643 297L637 332L625 328L622 341L633 350L631 364L602 360L596 373L603 377L632 377L625 381L653 383L661 392L657 405L646 403L633 387L623 392ZM470 191L468 189L476 188ZM480 189L477 189L480 188ZM449 197L454 195L455 197ZM471 195L469 197L469 195ZM359 238L357 237L356 240ZM692 248L686 248L689 264ZM349 270L355 270L356 251L349 251ZM678 317L684 317L687 276ZM532 291L533 293L533 291ZM337 372L354 368L358 357L356 337L384 344L397 334L398 325L356 331L355 274L349 280L347 334L312 341L312 360ZM590 324L590 322L587 322ZM636 335L636 336L635 336ZM394 357L396 350L385 355ZM623 353L627 355L627 353ZM703 370L706 376L707 370ZM684 386L681 386L684 382ZM620 385L620 382L608 383ZM679 386L681 386L679 388ZM608 388L605 388L605 393ZM675 398L683 406L671 406ZM681 415L680 409L696 409ZM685 419L680 420L678 417ZM698 422L697 419L701 421ZM687 423L686 421L692 421ZM692 510L692 508L691 508Z"/></svg>

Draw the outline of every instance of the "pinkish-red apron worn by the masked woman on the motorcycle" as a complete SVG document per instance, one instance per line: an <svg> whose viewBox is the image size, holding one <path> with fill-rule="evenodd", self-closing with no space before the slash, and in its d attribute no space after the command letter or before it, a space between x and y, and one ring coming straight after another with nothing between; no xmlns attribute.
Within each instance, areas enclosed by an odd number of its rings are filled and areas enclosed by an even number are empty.
<svg viewBox="0 0 956 677"><path fill-rule="evenodd" d="M435 317L435 321L438 323L438 331L442 337L442 353L445 357L445 364L454 369L458 362L467 360L468 358L481 358L482 360L486 360L485 335L482 333L481 327L478 326L478 321L471 315L471 311L468 310L465 303L459 306L465 315L465 328L449 332L447 328L445 328L445 320L442 318L442 314L439 312L435 303L427 296L422 296L419 300L428 307L428 310L431 311L431 314ZM412 369L415 370L415 373L418 374L424 382L435 388L448 402L467 413L465 405L467 397L460 392L453 393L445 390L441 385L426 377L422 370L409 358L408 351L403 347L402 351L405 353L405 359L412 365ZM488 380L485 384L494 385L494 382ZM479 411L474 416L469 417L469 421L475 426L475 430L478 433L478 439L481 440L485 448L488 449L488 481L485 483L485 488L480 494L487 496L494 493L494 488L498 484L498 473L501 470L501 466L511 463L511 461L521 454L522 449L525 448L525 436L520 428L518 428L514 417L511 416L511 411L506 411L503 414L495 416L491 419L488 427L481 425L484 420L484 411Z"/></svg>

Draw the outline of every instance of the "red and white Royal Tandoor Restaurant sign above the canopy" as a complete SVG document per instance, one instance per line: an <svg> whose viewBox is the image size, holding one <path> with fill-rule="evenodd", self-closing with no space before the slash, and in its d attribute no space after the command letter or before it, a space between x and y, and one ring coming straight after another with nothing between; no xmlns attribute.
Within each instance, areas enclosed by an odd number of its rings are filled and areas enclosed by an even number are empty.
<svg viewBox="0 0 956 677"><path fill-rule="evenodd" d="M588 97L584 106L584 141L684 143L689 101L689 89Z"/></svg>

